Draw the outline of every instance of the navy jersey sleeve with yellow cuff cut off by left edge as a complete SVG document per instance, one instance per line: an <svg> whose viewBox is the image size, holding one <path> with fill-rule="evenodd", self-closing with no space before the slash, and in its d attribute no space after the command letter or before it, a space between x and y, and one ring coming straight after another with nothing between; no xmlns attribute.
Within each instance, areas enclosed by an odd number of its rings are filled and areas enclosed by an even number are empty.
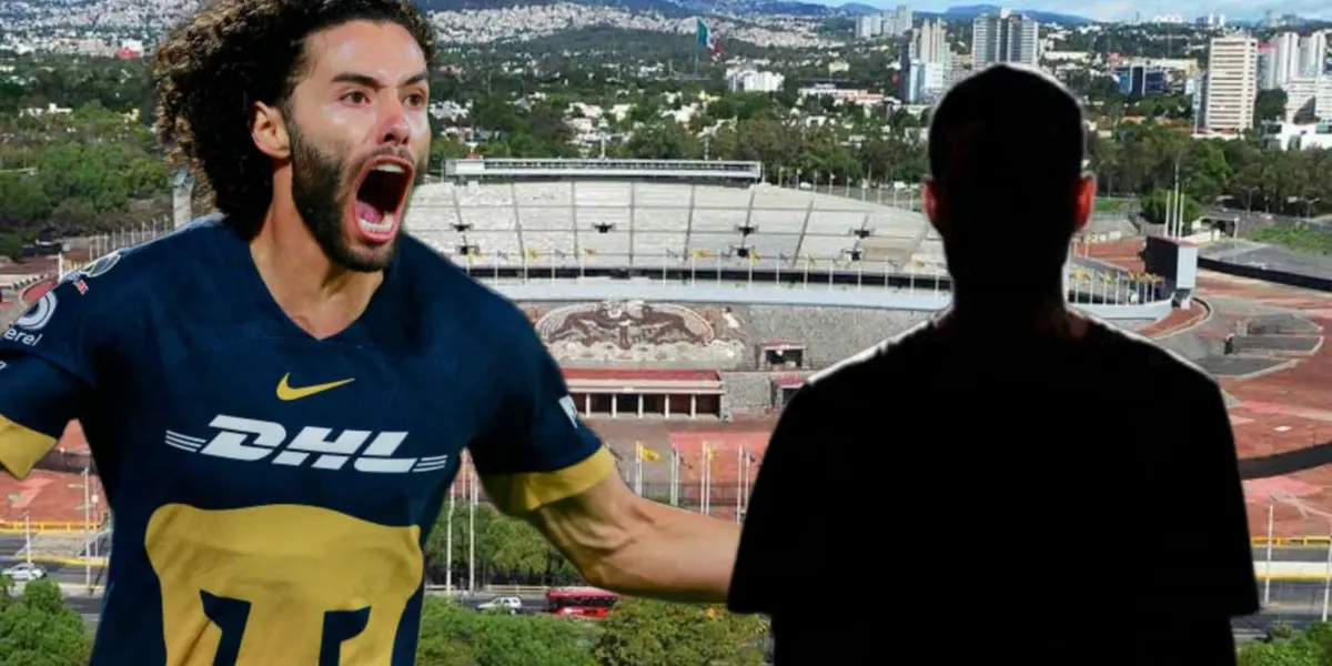
<svg viewBox="0 0 1332 666"><path fill-rule="evenodd" d="M23 478L55 446L95 382L87 284L56 285L0 336L0 466Z"/></svg>

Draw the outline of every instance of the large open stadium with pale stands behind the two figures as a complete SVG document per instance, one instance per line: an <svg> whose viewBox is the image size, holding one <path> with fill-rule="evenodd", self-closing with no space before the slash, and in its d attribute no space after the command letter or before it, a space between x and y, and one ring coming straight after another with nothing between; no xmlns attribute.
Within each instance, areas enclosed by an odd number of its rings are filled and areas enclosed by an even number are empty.
<svg viewBox="0 0 1332 666"><path fill-rule="evenodd" d="M734 517L805 377L948 300L915 189L773 176L759 163L448 161L416 189L405 226L523 306L635 488ZM28 285L21 301L52 285ZM1090 257L1070 262L1068 286L1080 308L1128 328L1171 312L1162 280ZM85 452L75 425L40 469L79 473ZM81 519L69 482L25 484L29 518Z"/></svg>

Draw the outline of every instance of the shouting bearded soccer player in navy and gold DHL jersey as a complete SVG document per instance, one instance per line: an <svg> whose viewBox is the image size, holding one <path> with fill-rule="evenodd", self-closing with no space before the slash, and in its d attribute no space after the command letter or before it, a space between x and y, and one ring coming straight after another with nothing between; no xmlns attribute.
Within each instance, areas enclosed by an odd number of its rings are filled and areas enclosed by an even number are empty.
<svg viewBox="0 0 1332 666"><path fill-rule="evenodd" d="M406 0L222 0L157 49L221 214L0 341L0 465L80 418L115 511L95 666L413 663L464 449L590 583L725 599L738 527L634 496L526 317L401 233L433 56Z"/></svg>

